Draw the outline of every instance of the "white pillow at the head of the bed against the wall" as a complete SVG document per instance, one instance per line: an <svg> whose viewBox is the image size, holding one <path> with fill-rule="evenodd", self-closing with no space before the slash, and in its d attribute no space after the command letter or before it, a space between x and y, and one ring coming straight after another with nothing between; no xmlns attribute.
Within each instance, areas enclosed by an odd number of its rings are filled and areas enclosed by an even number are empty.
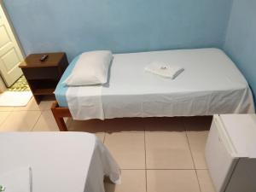
<svg viewBox="0 0 256 192"><path fill-rule="evenodd" d="M112 59L113 55L109 50L84 52L64 83L68 86L105 84Z"/></svg>

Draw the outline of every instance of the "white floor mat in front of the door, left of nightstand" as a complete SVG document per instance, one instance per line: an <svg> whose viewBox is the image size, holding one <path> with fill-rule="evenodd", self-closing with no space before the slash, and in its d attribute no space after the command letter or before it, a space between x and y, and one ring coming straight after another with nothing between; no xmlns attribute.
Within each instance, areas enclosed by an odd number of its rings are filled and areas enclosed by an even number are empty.
<svg viewBox="0 0 256 192"><path fill-rule="evenodd" d="M26 106L32 97L31 91L5 91L0 94L0 106Z"/></svg>

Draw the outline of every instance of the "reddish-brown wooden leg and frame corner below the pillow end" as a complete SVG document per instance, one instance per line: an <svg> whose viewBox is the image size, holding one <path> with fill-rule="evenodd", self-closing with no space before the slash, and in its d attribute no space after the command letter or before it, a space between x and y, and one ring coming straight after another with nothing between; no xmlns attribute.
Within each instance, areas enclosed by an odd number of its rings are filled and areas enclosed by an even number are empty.
<svg viewBox="0 0 256 192"><path fill-rule="evenodd" d="M55 121L60 129L60 131L68 131L67 125L65 124L65 117L72 117L68 108L59 107L58 102L54 102L51 106L51 111L55 117Z"/></svg>

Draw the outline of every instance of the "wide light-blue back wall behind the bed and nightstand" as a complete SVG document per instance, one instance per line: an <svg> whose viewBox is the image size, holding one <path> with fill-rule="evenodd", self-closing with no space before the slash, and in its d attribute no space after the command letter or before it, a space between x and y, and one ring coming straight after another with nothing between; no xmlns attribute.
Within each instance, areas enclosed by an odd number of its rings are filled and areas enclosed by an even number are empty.
<svg viewBox="0 0 256 192"><path fill-rule="evenodd" d="M224 44L232 0L4 0L26 55Z"/></svg>

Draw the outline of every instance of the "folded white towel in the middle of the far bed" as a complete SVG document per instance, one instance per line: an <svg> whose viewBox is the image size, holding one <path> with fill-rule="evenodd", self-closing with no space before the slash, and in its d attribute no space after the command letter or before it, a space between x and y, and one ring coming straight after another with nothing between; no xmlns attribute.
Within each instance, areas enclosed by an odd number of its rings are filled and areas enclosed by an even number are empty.
<svg viewBox="0 0 256 192"><path fill-rule="evenodd" d="M177 75L184 71L184 68L161 61L154 61L145 67L145 71L157 74L166 79L175 79Z"/></svg>

